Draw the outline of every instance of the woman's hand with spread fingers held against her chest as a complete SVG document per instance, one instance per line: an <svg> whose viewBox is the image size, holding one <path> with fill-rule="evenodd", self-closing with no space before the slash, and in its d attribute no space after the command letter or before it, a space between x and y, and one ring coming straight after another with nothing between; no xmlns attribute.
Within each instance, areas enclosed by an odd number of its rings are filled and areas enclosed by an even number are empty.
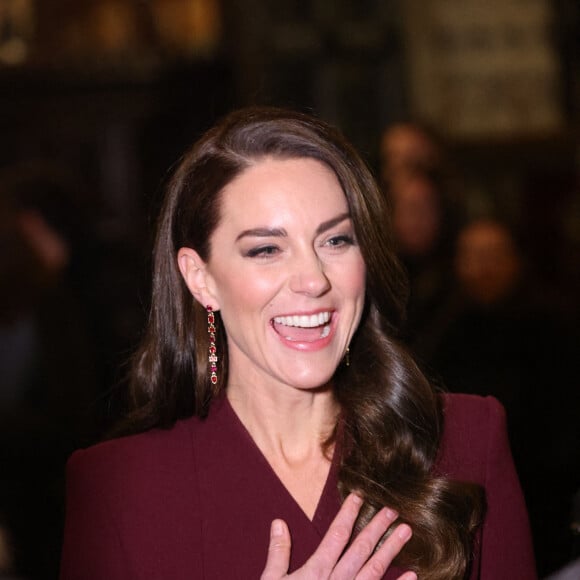
<svg viewBox="0 0 580 580"><path fill-rule="evenodd" d="M379 580L411 537L411 528L401 524L373 554L377 543L397 519L393 510L383 508L373 517L349 546L362 499L351 493L326 532L320 546L296 572L288 574L290 564L290 532L282 520L274 520L270 530L270 546L261 580ZM406 572L398 580L416 580L414 572Z"/></svg>

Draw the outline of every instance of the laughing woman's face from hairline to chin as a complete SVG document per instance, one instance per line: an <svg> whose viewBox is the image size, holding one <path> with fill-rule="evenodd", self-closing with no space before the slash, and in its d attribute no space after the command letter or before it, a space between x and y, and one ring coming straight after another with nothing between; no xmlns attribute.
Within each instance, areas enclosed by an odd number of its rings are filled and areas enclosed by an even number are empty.
<svg viewBox="0 0 580 580"><path fill-rule="evenodd" d="M205 284L227 334L229 385L325 385L365 295L335 174L312 159L267 158L226 186Z"/></svg>

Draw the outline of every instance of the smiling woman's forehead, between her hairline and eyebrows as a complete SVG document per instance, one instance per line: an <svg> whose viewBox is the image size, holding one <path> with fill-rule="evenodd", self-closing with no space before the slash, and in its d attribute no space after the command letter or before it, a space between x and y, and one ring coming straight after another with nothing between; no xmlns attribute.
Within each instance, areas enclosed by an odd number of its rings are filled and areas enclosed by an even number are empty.
<svg viewBox="0 0 580 580"><path fill-rule="evenodd" d="M311 158L256 161L223 189L221 197L221 221L348 211L333 170Z"/></svg>

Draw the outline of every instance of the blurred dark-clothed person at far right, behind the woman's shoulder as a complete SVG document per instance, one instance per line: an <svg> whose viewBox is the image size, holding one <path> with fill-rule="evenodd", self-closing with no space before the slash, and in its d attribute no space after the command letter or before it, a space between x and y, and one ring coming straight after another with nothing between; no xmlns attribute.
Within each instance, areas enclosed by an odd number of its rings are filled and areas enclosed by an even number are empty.
<svg viewBox="0 0 580 580"><path fill-rule="evenodd" d="M459 232L455 289L427 333L426 361L451 391L505 406L541 572L570 555L580 409L565 327L543 303L515 230L494 217ZM549 306L549 305L548 305Z"/></svg>

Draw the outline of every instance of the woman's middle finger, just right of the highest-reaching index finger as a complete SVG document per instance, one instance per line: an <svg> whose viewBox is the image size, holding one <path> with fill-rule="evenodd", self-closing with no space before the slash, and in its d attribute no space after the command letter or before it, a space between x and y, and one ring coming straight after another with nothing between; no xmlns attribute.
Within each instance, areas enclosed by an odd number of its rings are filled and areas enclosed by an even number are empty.
<svg viewBox="0 0 580 580"><path fill-rule="evenodd" d="M388 508L379 510L353 540L348 550L337 563L332 573L332 578L336 580L354 578L397 517L398 514L394 510Z"/></svg>

